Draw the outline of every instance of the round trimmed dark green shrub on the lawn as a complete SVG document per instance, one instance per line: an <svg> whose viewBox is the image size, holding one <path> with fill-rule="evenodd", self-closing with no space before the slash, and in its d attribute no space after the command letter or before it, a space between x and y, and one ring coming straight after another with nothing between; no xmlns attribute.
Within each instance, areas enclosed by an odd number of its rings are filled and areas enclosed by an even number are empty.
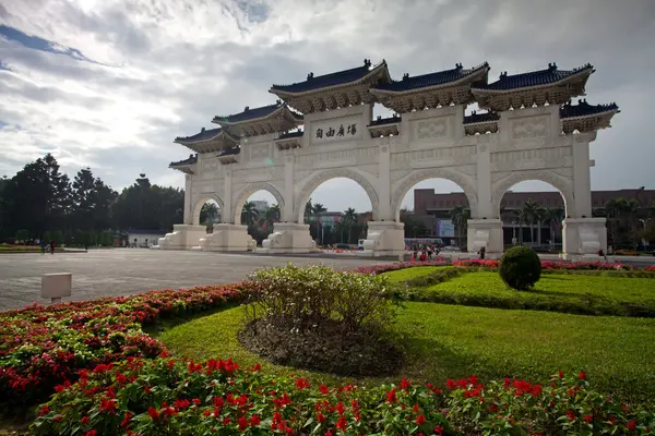
<svg viewBox="0 0 655 436"><path fill-rule="evenodd" d="M534 250L527 246L514 246L504 252L500 258L498 272L510 288L526 290L541 277L541 261Z"/></svg>

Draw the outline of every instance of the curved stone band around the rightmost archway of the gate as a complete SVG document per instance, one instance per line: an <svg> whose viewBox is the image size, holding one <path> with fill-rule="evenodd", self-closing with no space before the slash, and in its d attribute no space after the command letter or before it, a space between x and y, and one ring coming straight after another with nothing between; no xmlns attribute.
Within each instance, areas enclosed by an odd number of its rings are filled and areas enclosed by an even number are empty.
<svg viewBox="0 0 655 436"><path fill-rule="evenodd" d="M555 186L564 198L564 216L576 218L573 181L548 170L513 172L493 182L491 185L491 211L496 218L500 216L500 203L505 192L516 183L529 180L538 180Z"/></svg>

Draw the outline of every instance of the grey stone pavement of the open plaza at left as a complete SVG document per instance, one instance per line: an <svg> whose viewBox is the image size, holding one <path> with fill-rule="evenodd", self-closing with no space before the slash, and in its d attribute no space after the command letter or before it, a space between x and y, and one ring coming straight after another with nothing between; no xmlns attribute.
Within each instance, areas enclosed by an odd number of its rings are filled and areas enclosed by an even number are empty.
<svg viewBox="0 0 655 436"><path fill-rule="evenodd" d="M144 249L91 250L88 253L0 254L0 311L20 308L40 299L40 276L72 272L72 296L91 300L129 295L151 289L178 289L230 283L270 266L324 264L337 269L389 263L365 258L261 256Z"/></svg>

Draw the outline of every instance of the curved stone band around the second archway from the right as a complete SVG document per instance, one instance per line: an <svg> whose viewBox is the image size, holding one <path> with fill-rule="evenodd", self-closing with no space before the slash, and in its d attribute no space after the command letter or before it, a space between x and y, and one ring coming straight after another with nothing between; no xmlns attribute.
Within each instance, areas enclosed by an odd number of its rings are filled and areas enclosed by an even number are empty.
<svg viewBox="0 0 655 436"><path fill-rule="evenodd" d="M477 191L474 187L475 181L473 178L450 168L429 168L425 170L412 171L409 174L396 182L396 186L393 189L393 194L391 196L391 210L394 213L397 221L401 219L401 205L407 192L409 192L415 184L428 179L445 179L456 183L464 190L464 194L468 199L471 217L474 219L478 218Z"/></svg>

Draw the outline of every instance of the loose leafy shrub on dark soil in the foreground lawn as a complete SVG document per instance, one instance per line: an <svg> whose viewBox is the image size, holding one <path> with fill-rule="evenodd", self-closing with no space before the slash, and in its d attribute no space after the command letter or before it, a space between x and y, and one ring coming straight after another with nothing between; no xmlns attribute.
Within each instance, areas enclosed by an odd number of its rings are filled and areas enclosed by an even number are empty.
<svg viewBox="0 0 655 436"><path fill-rule="evenodd" d="M341 375L392 374L402 353L390 338L395 320L384 276L286 266L252 276L247 325L239 340L287 366Z"/></svg>

